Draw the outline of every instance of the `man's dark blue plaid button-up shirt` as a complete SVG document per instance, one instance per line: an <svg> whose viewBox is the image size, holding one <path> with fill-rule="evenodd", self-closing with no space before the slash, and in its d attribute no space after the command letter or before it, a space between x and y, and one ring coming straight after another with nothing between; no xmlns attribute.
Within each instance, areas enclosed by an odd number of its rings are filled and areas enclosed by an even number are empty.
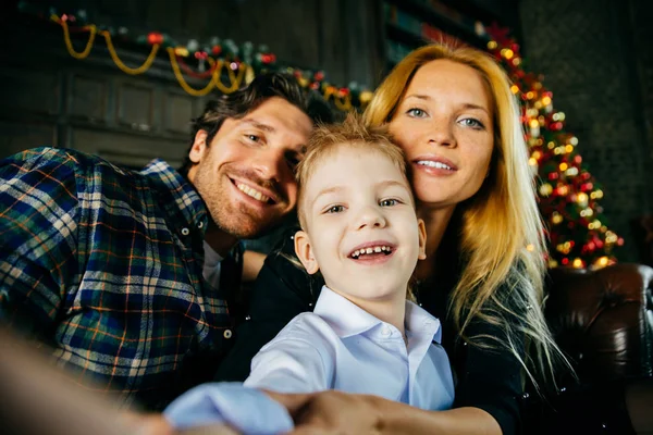
<svg viewBox="0 0 653 435"><path fill-rule="evenodd" d="M27 150L0 161L0 320L59 365L148 409L215 369L232 340L224 295L201 278L209 217L165 162Z"/></svg>

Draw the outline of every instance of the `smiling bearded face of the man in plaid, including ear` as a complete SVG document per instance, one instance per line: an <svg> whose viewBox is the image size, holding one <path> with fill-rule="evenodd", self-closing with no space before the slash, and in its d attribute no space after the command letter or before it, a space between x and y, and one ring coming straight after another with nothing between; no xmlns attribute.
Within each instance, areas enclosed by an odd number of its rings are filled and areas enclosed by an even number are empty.
<svg viewBox="0 0 653 435"><path fill-rule="evenodd" d="M198 132L188 179L222 231L256 237L295 207L294 170L311 129L301 110L272 97L243 119L226 119L210 146Z"/></svg>

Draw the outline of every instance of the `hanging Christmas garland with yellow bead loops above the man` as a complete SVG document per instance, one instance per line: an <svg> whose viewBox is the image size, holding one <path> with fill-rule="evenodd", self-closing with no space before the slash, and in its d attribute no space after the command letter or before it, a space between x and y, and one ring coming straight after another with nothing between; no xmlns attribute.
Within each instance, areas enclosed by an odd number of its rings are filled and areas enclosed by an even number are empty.
<svg viewBox="0 0 653 435"><path fill-rule="evenodd" d="M241 88L243 84L249 84L261 72L280 71L294 75L303 88L318 91L324 100L332 101L335 108L342 111L365 109L372 98L370 90L359 88L356 83L349 84L348 87L336 87L330 84L322 71L312 72L279 65L276 57L266 46L260 46L258 52L255 52L251 42L238 47L231 39L221 41L217 37L211 38L204 45L192 39L184 46L170 36L158 32L130 38L128 30L120 27L118 37L122 41L149 47L149 54L143 64L138 67L130 67L120 59L115 50L114 45L118 44L115 41L116 32L111 27L87 24L85 11L81 10L76 15L58 15L56 9L50 8L47 13L44 13L26 1L19 3L19 10L32 15L48 16L50 21L59 24L63 30L63 41L69 54L77 60L88 58L97 41L96 36L102 36L113 63L125 74L138 75L146 73L151 67L160 49L164 48L169 54L172 73L178 85L184 91L194 97L202 97L214 90L231 94ZM88 39L82 51L75 50L73 46L71 36L73 33L88 34ZM197 67L189 66L186 59L190 59L194 63L197 62ZM202 88L194 88L184 75L195 80L208 79L208 83Z"/></svg>

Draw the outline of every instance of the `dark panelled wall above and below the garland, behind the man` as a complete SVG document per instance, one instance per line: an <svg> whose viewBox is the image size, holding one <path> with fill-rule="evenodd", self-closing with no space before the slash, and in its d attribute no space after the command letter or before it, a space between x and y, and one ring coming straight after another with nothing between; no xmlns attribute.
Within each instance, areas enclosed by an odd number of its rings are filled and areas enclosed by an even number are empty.
<svg viewBox="0 0 653 435"><path fill-rule="evenodd" d="M16 1L0 7L0 158L26 148L57 146L100 154L139 166L155 157L178 164L187 150L188 121L208 99L186 94L159 57L143 75L120 71L96 38L91 54L73 59L62 28L47 20L17 14ZM372 87L382 55L375 0L32 0L59 14L126 27L131 35L158 30L180 44L212 36L236 44L266 44L280 62L322 69L335 85L352 80ZM46 15L47 16L47 15ZM77 51L87 34L75 40ZM147 53L119 49L134 67ZM205 82L193 82L196 89ZM213 96L217 94L212 94ZM210 95L211 96L211 95ZM209 96L209 97L210 97Z"/></svg>

